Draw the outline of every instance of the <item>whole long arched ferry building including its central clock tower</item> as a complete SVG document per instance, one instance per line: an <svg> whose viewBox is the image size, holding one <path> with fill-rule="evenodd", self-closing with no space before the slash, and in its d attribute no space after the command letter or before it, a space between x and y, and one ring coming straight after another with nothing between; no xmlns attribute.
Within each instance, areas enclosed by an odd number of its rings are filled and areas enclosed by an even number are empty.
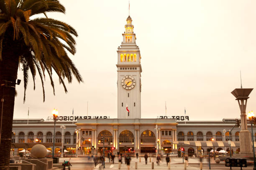
<svg viewBox="0 0 256 170"><path fill-rule="evenodd" d="M207 148L229 151L229 135L233 152L239 152L240 128L235 127L230 134L223 131L236 124L234 119L190 121L188 116L157 118L157 115L154 119L141 118L141 52L136 45L133 28L132 19L128 16L123 42L117 50L117 118L83 116L74 121L72 116L68 119L59 117L54 152L58 153L62 140L70 153L102 152L104 137L107 152L177 153L184 148L188 154L202 154ZM60 125L66 126L63 133ZM53 129L53 121L31 119L27 123L24 119L14 120L13 154L36 143L52 150Z"/></svg>

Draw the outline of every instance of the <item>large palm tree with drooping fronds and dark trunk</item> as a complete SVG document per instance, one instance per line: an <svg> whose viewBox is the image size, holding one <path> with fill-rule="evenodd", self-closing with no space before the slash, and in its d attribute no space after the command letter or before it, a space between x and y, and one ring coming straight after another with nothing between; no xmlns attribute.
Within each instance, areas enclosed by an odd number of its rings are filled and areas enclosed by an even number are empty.
<svg viewBox="0 0 256 170"><path fill-rule="evenodd" d="M67 23L48 18L47 12L65 13L65 8L59 0L0 0L0 170L9 170L18 67L23 70L24 102L29 70L34 89L38 71L43 94L47 75L53 92L53 74L58 75L65 92L64 78L71 83L74 76L82 82L81 75L68 57L68 53L74 55L76 52L74 36L77 32ZM45 17L33 16L37 14Z"/></svg>

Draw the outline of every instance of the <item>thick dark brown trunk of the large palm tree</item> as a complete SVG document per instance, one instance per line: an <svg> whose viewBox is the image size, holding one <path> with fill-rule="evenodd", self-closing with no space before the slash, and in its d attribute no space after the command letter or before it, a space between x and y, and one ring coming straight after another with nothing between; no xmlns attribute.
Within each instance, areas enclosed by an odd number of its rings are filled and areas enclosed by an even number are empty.
<svg viewBox="0 0 256 170"><path fill-rule="evenodd" d="M0 170L9 170L15 82L17 79L19 57L18 53L14 50L3 51L2 57L3 60L0 61L0 128L2 128L0 131ZM9 83L6 83L5 80ZM4 99L4 101L1 102L1 99Z"/></svg>

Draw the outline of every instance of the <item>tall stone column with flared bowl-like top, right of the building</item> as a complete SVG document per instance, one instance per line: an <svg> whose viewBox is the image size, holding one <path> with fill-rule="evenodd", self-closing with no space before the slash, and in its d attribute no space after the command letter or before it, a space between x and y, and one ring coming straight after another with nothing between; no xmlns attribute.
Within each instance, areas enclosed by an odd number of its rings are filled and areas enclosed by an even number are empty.
<svg viewBox="0 0 256 170"><path fill-rule="evenodd" d="M236 97L241 111L241 131L239 133L239 143L242 155L251 155L251 134L247 130L246 104L253 88L236 88L231 93ZM231 150L230 150L231 152Z"/></svg>

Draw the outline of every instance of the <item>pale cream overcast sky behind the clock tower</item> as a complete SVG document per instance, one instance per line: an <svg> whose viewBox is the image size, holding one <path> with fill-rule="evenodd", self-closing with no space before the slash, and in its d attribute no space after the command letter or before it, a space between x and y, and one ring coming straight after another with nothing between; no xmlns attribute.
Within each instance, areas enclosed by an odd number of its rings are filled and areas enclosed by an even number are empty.
<svg viewBox="0 0 256 170"><path fill-rule="evenodd" d="M78 32L77 53L70 57L84 83L73 81L65 94L55 77L56 96L46 77L43 102L40 78L30 81L23 104L22 82L17 86L14 118L59 115L117 117L117 47L122 42L128 0L61 0L66 15L49 17L72 25ZM240 117L235 97L240 88L256 87L255 0L130 0L136 43L141 50L142 118L186 115L190 120ZM256 90L248 99L255 110Z"/></svg>

